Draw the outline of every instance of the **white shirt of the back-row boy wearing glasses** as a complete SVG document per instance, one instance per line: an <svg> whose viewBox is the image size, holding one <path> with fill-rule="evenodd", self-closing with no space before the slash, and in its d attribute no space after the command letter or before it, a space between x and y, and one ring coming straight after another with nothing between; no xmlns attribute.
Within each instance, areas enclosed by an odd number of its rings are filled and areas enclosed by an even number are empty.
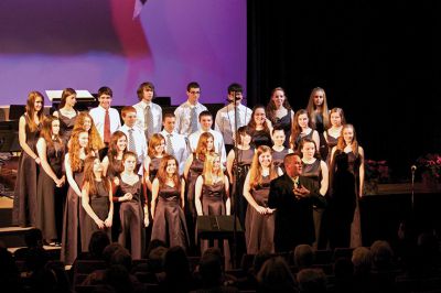
<svg viewBox="0 0 441 293"><path fill-rule="evenodd" d="M201 129L200 124L200 113L206 111L207 108L201 102L196 102L195 106L191 105L189 101L181 104L175 110L174 116L176 117L176 123L174 124L174 131L185 137L192 134L192 108L196 108L196 119L197 129Z"/></svg>

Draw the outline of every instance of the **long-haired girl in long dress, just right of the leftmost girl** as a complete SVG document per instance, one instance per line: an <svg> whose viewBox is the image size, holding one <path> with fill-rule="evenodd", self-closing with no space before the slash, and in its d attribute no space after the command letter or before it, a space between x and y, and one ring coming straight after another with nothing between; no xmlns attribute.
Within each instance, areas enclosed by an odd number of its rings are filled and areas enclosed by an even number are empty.
<svg viewBox="0 0 441 293"><path fill-rule="evenodd" d="M49 116L43 120L36 151L41 160L36 202L36 227L42 231L46 243L55 245L61 239L61 216L64 204L63 191L65 175L63 174L64 143L60 138L60 119Z"/></svg>

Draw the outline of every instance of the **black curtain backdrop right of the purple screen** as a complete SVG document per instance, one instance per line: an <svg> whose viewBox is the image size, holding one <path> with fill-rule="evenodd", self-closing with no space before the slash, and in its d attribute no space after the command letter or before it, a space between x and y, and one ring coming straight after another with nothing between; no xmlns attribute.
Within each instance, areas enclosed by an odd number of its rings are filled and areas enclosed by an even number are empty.
<svg viewBox="0 0 441 293"><path fill-rule="evenodd" d="M286 89L294 110L323 87L367 159L394 181L441 152L441 7L437 1L248 1L248 105Z"/></svg>

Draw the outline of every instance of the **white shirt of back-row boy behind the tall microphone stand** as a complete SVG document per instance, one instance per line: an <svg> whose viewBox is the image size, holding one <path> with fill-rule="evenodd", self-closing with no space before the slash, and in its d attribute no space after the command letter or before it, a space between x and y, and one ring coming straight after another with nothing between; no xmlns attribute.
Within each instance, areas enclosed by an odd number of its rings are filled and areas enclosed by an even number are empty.
<svg viewBox="0 0 441 293"><path fill-rule="evenodd" d="M251 119L251 109L241 104L237 106L237 128L248 124ZM236 132L235 121L235 107L233 104L228 104L216 113L214 129L224 135L226 144L234 144L233 134Z"/></svg>

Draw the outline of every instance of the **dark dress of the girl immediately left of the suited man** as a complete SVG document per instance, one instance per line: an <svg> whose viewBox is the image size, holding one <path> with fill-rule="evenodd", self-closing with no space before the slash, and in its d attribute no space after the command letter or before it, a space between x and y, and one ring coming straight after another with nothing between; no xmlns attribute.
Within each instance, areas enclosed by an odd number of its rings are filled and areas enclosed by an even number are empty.
<svg viewBox="0 0 441 293"><path fill-rule="evenodd" d="M268 194L270 176L262 176L262 182L251 189L252 198L259 206L268 207ZM247 253L256 254L261 250L270 253L275 252L275 214L260 215L248 205L247 217L245 220L245 239L247 242Z"/></svg>

